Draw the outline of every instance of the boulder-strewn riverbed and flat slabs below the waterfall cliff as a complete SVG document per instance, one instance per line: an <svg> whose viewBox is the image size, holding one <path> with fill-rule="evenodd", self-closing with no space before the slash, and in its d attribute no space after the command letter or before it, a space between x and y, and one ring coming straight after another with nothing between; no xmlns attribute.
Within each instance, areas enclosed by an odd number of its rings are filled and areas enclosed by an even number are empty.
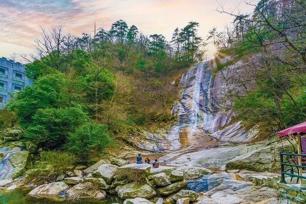
<svg viewBox="0 0 306 204"><path fill-rule="evenodd" d="M165 161L159 168L129 164L127 158L109 157L89 167L70 167L67 174L55 182L36 186L24 183L20 176L3 184L3 189L31 188L27 197L52 202L90 200L99 203L118 197L118 202L124 203L278 203L275 183L279 174L267 171L277 167L276 163L275 167L274 163L268 163L270 159L278 162L274 152L280 147L281 144L273 143L177 151L178 155L173 152L161 157ZM283 147L290 148L290 144L284 143ZM213 155L217 156L215 162ZM18 161L23 160L11 159L11 162ZM251 165L243 165L244 161ZM254 164L260 161L266 163L262 162L261 169L252 171ZM2 176L8 177L11 171L6 172L6 175L2 172Z"/></svg>

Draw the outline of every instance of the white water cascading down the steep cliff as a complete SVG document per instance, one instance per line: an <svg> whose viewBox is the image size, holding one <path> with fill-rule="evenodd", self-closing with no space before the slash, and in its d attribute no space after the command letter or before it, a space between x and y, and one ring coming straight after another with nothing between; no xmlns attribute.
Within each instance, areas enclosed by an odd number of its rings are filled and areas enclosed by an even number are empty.
<svg viewBox="0 0 306 204"><path fill-rule="evenodd" d="M181 100L176 102L172 109L172 113L177 112L178 122L167 134L167 139L171 142L170 150L180 148L182 141L188 141L187 145L192 146L193 142L197 143L190 140L192 135L198 135L198 138L201 134L204 135L201 130L203 120L209 121L211 118L209 92L212 75L208 64L208 62L197 63L181 77Z"/></svg>

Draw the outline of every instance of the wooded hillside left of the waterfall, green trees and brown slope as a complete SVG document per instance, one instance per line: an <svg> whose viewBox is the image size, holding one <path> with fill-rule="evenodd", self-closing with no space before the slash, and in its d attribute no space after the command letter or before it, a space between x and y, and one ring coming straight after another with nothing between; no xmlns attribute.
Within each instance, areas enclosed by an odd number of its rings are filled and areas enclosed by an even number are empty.
<svg viewBox="0 0 306 204"><path fill-rule="evenodd" d="M62 27L42 30L35 41L39 59L26 65L34 85L8 109L38 148L77 152L86 160L113 145L111 138L128 141L138 127L171 122L178 89L170 82L203 54L198 26L176 29L171 42L160 34L145 36L123 20L93 36L76 37Z"/></svg>

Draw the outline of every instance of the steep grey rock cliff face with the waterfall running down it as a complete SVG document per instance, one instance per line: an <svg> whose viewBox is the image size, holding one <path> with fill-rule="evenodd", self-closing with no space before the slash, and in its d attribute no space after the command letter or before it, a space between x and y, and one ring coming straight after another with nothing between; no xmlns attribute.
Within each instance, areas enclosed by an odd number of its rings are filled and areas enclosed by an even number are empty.
<svg viewBox="0 0 306 204"><path fill-rule="evenodd" d="M231 60L225 57L221 62ZM244 143L256 136L257 128L246 130L241 121L232 121L234 112L227 108L232 101L230 92L239 92L234 81L243 74L243 63L237 61L213 76L213 61L199 62L182 75L178 101L173 104L172 114L177 120L166 132L146 134L147 141L139 147L152 150L176 150L183 147L202 148L220 143ZM158 145L156 141L159 141ZM160 141L166 141L160 143Z"/></svg>

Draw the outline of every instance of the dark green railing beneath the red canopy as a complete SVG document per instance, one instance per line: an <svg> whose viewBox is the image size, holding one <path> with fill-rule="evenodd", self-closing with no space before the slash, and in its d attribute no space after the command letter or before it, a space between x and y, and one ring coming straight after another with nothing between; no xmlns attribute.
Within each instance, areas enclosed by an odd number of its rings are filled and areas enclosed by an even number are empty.
<svg viewBox="0 0 306 204"><path fill-rule="evenodd" d="M287 161L284 161L284 156L287 156L289 159ZM279 181L280 183L286 183L285 175L290 176L291 178L296 177L297 180L299 178L306 179L306 176L300 175L300 173L298 173L300 172L298 171L299 168L306 169L306 166L290 163L290 161L294 162L295 156L306 157L306 154L294 154L291 152L280 152L280 169L281 169L281 180ZM287 168L285 168L286 166ZM297 174L294 172L293 167L296 168Z"/></svg>

